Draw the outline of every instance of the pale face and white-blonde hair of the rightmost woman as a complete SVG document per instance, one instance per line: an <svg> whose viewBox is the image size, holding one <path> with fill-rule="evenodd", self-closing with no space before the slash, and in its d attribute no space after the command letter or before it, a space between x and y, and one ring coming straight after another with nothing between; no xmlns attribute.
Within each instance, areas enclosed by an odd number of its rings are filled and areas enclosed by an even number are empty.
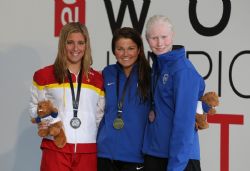
<svg viewBox="0 0 250 171"><path fill-rule="evenodd" d="M148 44L156 55L161 55L172 50L173 31L164 22L154 23L147 35Z"/></svg>

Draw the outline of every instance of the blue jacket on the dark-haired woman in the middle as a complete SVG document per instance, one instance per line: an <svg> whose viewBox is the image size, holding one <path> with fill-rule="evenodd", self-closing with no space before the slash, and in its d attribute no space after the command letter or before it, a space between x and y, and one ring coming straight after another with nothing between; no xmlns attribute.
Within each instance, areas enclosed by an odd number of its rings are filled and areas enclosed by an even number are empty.
<svg viewBox="0 0 250 171"><path fill-rule="evenodd" d="M120 99L127 79L121 66L119 64L110 65L103 70L106 106L97 136L98 157L142 163L142 143L150 102L143 103L139 98L138 66L134 65L123 104L124 127L116 130L113 122L118 111L117 74L119 74Z"/></svg>

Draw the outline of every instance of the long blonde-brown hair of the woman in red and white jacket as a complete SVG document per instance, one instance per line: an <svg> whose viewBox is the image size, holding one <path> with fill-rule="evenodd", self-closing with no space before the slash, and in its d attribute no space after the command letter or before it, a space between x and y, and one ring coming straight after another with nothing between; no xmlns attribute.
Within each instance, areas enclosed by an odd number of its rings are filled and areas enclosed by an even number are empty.
<svg viewBox="0 0 250 171"><path fill-rule="evenodd" d="M86 49L82 58L82 69L84 75L88 78L88 72L92 65L92 55L90 47L90 39L88 29L84 24L79 22L67 23L63 26L58 42L58 52L54 62L54 73L56 80L61 84L67 74L67 53L66 53L66 41L71 33L81 33L86 41Z"/></svg>

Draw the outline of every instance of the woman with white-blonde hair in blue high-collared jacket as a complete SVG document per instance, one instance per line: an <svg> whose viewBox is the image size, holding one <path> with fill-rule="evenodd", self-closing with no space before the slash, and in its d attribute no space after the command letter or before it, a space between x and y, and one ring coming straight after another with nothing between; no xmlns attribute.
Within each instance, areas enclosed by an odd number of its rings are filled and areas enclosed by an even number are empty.
<svg viewBox="0 0 250 171"><path fill-rule="evenodd" d="M183 46L173 45L165 16L151 17L146 38L153 52L152 112L145 131L145 171L200 171L197 100L205 83Z"/></svg>

